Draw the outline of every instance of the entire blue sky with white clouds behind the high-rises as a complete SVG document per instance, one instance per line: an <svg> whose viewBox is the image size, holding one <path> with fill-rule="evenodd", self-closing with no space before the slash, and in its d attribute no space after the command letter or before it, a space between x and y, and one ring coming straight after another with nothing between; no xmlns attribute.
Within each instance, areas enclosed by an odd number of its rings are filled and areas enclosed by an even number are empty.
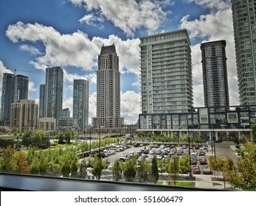
<svg viewBox="0 0 256 206"><path fill-rule="evenodd" d="M140 113L139 37L176 29L190 35L194 106L204 105L200 43L210 40L226 40L230 104L239 104L229 0L0 0L0 22L0 90L2 74L16 68L30 77L29 99L38 102L45 68L60 66L63 108L71 112L73 79L89 80L89 121L101 46L117 47L121 116L131 124Z"/></svg>

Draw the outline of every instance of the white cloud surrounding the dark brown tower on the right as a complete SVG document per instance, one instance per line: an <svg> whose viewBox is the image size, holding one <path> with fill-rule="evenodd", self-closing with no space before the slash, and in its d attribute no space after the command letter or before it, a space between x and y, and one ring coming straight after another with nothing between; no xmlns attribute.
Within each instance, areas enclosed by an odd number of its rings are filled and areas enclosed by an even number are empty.
<svg viewBox="0 0 256 206"><path fill-rule="evenodd" d="M193 0L190 0L193 1ZM216 1L217 2L217 1ZM229 102L230 104L239 104L238 101L238 81L235 64L235 42L232 29L232 11L229 4L223 2L225 7L221 10L214 10L218 7L212 1L196 1L196 3L212 8L212 13L201 15L200 18L190 21L190 16L181 18L180 28L187 29L190 38L202 38L206 41L226 40L226 57L229 83ZM227 8L228 7L228 8ZM193 90L195 106L204 105L202 65L200 44L191 47L193 57ZM201 97L200 97L201 96Z"/></svg>

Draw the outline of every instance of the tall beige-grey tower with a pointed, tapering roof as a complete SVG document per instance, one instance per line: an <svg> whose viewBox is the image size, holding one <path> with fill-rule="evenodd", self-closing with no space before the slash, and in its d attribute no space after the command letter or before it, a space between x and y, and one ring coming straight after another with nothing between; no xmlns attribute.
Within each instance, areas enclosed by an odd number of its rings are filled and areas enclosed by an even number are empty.
<svg viewBox="0 0 256 206"><path fill-rule="evenodd" d="M122 127L120 118L120 71L116 47L102 46L97 71L97 117L94 127Z"/></svg>

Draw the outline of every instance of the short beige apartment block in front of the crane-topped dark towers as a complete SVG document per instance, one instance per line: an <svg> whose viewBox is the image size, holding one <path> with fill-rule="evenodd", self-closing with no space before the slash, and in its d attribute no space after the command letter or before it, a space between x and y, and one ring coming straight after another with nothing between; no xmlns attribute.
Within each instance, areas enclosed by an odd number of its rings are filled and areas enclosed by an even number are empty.
<svg viewBox="0 0 256 206"><path fill-rule="evenodd" d="M16 132L36 131L38 104L34 100L21 99L11 106L10 127Z"/></svg>

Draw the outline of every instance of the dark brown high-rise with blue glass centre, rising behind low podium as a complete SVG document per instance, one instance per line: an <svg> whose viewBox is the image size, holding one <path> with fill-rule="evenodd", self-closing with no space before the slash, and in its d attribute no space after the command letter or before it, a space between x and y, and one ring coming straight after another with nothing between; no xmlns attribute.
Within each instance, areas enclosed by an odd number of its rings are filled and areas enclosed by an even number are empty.
<svg viewBox="0 0 256 206"><path fill-rule="evenodd" d="M226 68L226 40L201 43L204 106L229 106Z"/></svg>

